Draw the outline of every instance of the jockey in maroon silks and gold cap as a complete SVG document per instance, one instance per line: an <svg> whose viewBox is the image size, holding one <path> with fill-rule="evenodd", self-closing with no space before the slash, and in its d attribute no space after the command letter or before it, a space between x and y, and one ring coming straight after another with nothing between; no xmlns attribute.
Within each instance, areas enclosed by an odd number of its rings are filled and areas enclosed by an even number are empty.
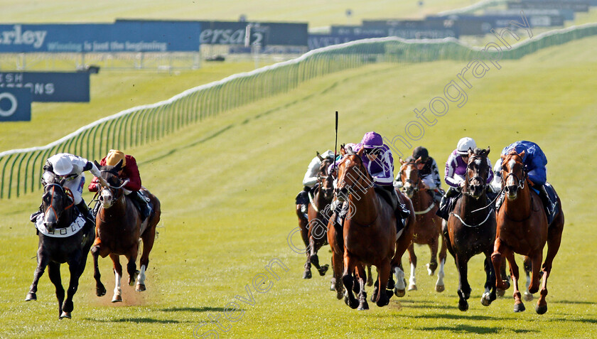
<svg viewBox="0 0 597 339"><path fill-rule="evenodd" d="M141 190L141 176L139 175L139 168L136 166L136 160L133 156L124 155L122 151L117 149L111 149L107 156L99 161L101 166L116 166L119 161L122 161L122 169L120 170L119 177L123 180L128 180L127 184L124 185L124 195L127 195L136 207L141 212L141 222L149 217L151 214L151 207L149 207L148 201L144 197ZM95 176L91 181L88 189L90 192L97 192L99 190L98 180L100 177ZM134 194L131 194L134 193Z"/></svg>

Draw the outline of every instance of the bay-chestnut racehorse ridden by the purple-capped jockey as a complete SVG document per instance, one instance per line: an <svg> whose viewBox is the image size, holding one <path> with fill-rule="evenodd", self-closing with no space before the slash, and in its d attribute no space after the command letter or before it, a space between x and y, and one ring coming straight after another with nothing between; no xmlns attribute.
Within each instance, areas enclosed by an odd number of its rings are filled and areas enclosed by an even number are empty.
<svg viewBox="0 0 597 339"><path fill-rule="evenodd" d="M394 209L384 198L375 193L372 178L362 163L363 149L356 154L352 149L341 147L343 155L338 164L338 185L335 198L340 203L348 203L348 213L343 225L343 275L347 303L350 308L365 310L369 308L365 294L365 268L371 264L377 267L377 286L380 293L375 302L377 306L386 306L391 291L387 283L392 269L392 259L396 251L396 219ZM338 230L333 236L338 237ZM411 233L412 234L412 233ZM328 239L330 235L328 235ZM409 239L410 241L410 239ZM410 242L404 247L404 253ZM337 244L336 244L337 246ZM400 257L402 257L400 253ZM334 259L333 264L337 262ZM353 272L356 270L358 281L358 301L353 295ZM356 288L355 288L356 289Z"/></svg>

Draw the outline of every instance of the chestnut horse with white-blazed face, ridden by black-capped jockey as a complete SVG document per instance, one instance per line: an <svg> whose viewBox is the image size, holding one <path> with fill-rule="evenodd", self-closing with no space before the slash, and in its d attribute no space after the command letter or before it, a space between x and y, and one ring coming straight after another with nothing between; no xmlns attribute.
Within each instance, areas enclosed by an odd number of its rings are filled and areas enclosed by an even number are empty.
<svg viewBox="0 0 597 339"><path fill-rule="evenodd" d="M431 252L431 260L427 264L427 271L430 276L434 275L438 267L437 250L439 240L441 239L441 247L439 250L439 271L437 273L436 291L443 292L443 265L446 264L446 243L441 236L441 217L436 215L438 205L434 203L433 195L429 194L428 190L424 188L423 181L419 176L419 171L423 168L424 163L421 158L414 159L407 158L406 161L400 159L402 164L400 168L400 178L404 185L402 190L412 201L414 207L414 230L413 230L413 244L409 246L409 262L411 264L411 275L409 279L409 291L416 290L416 254L414 253L414 243L427 244Z"/></svg>

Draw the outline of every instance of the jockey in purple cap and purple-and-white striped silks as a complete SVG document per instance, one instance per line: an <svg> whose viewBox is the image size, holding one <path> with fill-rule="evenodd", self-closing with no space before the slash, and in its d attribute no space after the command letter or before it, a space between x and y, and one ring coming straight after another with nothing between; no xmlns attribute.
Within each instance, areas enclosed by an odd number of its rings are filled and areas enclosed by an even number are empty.
<svg viewBox="0 0 597 339"><path fill-rule="evenodd" d="M372 177L373 185L387 190L389 193L394 215L396 216L397 232L400 232L404 228L403 219L409 216L409 210L399 203L398 194L394 190L394 157L392 151L384 144L382 136L375 133L375 131L365 133L360 144L347 144L345 147L348 146L351 146L355 153L363 149L362 163Z"/></svg>

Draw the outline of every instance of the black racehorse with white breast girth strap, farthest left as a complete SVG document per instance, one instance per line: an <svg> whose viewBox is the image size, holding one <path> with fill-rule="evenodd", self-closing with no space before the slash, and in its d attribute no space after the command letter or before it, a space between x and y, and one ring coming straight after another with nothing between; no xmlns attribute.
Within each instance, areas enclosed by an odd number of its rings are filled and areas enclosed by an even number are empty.
<svg viewBox="0 0 597 339"><path fill-rule="evenodd" d="M50 180L43 188L43 214L38 216L36 222L39 236L37 268L25 300L37 300L38 281L45 267L48 267L48 276L56 288L58 316L70 318L74 309L72 297L77 292L79 278L85 270L94 230L93 227L85 227L85 218L75 207L72 193L65 190L64 183L65 179L58 183ZM60 264L63 263L68 263L70 271L66 299L60 279Z"/></svg>

